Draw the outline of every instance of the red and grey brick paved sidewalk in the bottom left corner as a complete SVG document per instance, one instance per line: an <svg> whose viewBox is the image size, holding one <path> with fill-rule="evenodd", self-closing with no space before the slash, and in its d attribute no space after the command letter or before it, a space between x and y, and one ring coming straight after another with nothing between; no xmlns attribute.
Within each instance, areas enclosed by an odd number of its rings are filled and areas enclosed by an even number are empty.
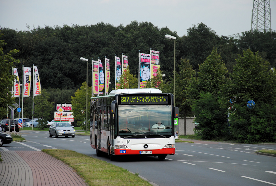
<svg viewBox="0 0 276 186"><path fill-rule="evenodd" d="M41 151L1 151L1 158L1 186L86 186L71 167Z"/></svg>

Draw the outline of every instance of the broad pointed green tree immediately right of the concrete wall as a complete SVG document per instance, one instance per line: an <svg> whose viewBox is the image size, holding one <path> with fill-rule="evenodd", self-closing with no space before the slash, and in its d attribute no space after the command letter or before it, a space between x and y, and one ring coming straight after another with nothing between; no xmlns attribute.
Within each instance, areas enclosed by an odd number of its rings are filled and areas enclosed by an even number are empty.
<svg viewBox="0 0 276 186"><path fill-rule="evenodd" d="M217 49L213 49L203 64L198 77L192 81L190 95L195 121L199 123L201 139L218 139L227 136L227 107L220 105L221 87L226 83L227 69Z"/></svg>

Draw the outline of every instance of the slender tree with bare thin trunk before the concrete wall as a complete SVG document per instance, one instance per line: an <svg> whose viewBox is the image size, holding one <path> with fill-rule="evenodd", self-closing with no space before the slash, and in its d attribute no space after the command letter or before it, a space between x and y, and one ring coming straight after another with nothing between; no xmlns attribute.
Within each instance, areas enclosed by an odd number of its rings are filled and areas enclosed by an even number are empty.
<svg viewBox="0 0 276 186"><path fill-rule="evenodd" d="M186 135L186 117L192 113L192 101L189 96L189 84L192 77L195 76L195 70L193 70L190 61L182 59L178 65L179 73L176 73L177 86L175 87L175 104L179 108L179 116L184 117L184 135Z"/></svg>

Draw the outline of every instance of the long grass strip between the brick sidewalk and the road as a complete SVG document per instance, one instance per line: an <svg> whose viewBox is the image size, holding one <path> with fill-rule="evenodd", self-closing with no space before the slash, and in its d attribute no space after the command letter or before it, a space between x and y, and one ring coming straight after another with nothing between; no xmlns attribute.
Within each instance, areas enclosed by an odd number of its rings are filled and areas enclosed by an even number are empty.
<svg viewBox="0 0 276 186"><path fill-rule="evenodd" d="M70 166L88 185L151 185L128 170L69 150L43 149L43 152Z"/></svg>

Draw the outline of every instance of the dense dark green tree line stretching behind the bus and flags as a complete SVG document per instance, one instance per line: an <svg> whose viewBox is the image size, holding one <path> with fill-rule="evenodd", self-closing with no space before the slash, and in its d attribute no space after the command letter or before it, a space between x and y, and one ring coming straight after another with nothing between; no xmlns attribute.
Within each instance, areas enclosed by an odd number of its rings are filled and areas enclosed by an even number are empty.
<svg viewBox="0 0 276 186"><path fill-rule="evenodd" d="M258 102L261 106L258 108L266 108L266 110L271 108L272 110L265 112L267 115L272 114L275 109L275 73L271 75L269 71L271 67L276 66L275 32L245 32L235 39L218 36L211 28L199 23L189 28L187 35L179 37L176 32L170 31L167 27L158 28L150 22L138 23L137 21L117 27L101 22L90 26L63 25L63 27L55 26L54 28L45 26L24 32L9 28L0 29L3 33L1 39L8 43L3 46L3 53L18 50L13 54L13 58L19 60L20 63L14 63L13 66L18 69L19 76L22 77L22 65L27 67L36 65L39 69L41 87L49 93L49 102L55 103L71 102L71 96L74 97L74 92L83 86L86 80L86 62L79 60L80 57L87 58L89 61L92 58L94 60L100 58L104 61L105 56L110 59L111 86L109 91L111 91L115 83L115 73L113 73L115 65L112 62L115 54L119 57L122 53L128 56L129 68L126 76L136 80L138 78L138 51L149 53L150 48L160 51L160 73L166 75L163 78L159 76L159 79L163 79L159 88L163 89L163 92L172 93L174 42L165 39L164 35L176 36L176 106L180 108L180 116L196 115L196 120L201 124L200 134L203 139L226 136L249 143L265 140L262 137L248 140L248 136L241 136L246 131L258 131L254 127L253 129L252 127L243 128L243 130L235 127L241 125L239 121L241 113L247 114L247 119L250 120L248 125L253 120L259 121L258 117L250 117L246 110L237 110L239 104L244 107L242 104L247 99L262 101L262 104ZM246 56L250 57L246 58ZM254 60L261 62L255 64L252 62ZM90 62L88 68L91 69ZM262 69L262 71L256 69ZM245 76L248 71L254 73ZM91 70L88 72L88 79L91 80ZM270 78L274 85L263 77ZM255 85L255 89L239 88L245 87L246 84ZM91 86L91 81L88 81L88 86ZM156 86L156 82L153 81L148 86ZM256 96L256 91L260 95ZM243 97L244 92L250 96L245 96L242 102L235 102L236 110L231 110L235 113L232 114L233 125L229 127L230 124L227 123L228 100ZM26 116L30 117L30 99L24 98L24 109L25 103ZM252 113L252 110L248 112ZM262 112L259 113L260 116L262 114ZM235 119L234 116L237 118ZM263 130L271 132L270 140L275 138L275 129L268 130L266 123L269 122L269 125L272 125L270 128L275 128L276 119L273 120L273 118L272 120L270 118L270 121L262 121ZM266 134L260 133L258 134L260 136Z"/></svg>

